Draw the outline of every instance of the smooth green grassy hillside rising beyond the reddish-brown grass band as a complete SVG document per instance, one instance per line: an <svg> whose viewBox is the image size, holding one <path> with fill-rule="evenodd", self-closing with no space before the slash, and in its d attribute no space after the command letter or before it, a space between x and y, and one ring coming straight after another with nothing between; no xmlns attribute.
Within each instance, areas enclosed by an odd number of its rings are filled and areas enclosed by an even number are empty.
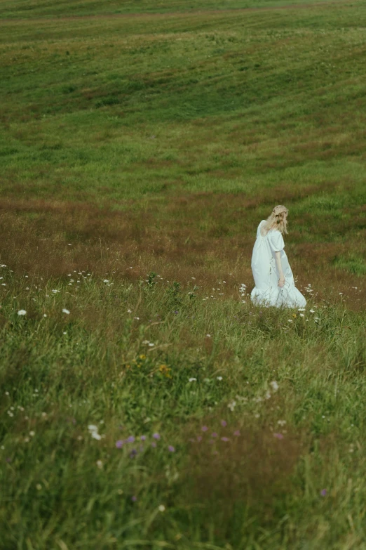
<svg viewBox="0 0 366 550"><path fill-rule="evenodd" d="M363 18L355 3L4 21L1 193L123 202L346 180L353 207Z"/></svg>

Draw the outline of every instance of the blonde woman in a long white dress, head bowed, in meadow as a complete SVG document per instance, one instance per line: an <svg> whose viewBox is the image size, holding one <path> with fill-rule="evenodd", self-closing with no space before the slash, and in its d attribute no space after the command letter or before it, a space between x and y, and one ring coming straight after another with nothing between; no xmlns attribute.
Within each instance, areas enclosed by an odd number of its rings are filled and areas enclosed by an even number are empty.
<svg viewBox="0 0 366 550"><path fill-rule="evenodd" d="M252 254L255 288L252 302L260 306L304 308L306 299L294 285L294 276L284 251L283 233L287 233L287 208L274 207L262 220Z"/></svg>

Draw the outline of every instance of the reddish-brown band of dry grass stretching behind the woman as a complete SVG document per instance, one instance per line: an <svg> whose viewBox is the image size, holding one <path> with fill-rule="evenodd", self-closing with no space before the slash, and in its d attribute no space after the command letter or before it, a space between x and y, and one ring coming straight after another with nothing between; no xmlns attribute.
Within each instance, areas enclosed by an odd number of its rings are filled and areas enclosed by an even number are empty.
<svg viewBox="0 0 366 550"><path fill-rule="evenodd" d="M62 277L74 269L100 276L113 270L129 280L150 271L169 281L188 282L194 276L208 290L224 279L226 292L236 294L238 282L252 283L250 258L261 214L266 216L278 197L291 204L317 190L276 188L256 199L206 192L172 197L166 204L151 201L144 207L126 202L125 211L112 211L108 204L98 209L88 203L2 199L1 262L15 273L46 277ZM332 266L335 256L358 247L360 237L353 232L362 223L362 208L358 210L344 221L324 216L323 225L311 212L290 220L294 230L290 225L287 254L300 287L311 282L320 297L330 287L339 292L360 287L358 277ZM317 224L317 235L324 235L324 241L304 242L298 223ZM346 240L329 240L332 228ZM353 306L359 307L364 298L360 294Z"/></svg>

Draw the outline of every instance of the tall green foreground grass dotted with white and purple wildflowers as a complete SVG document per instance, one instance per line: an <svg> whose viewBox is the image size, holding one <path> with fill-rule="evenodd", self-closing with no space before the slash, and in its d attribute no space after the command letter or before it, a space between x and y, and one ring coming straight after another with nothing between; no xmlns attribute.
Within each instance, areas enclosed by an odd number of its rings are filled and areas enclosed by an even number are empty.
<svg viewBox="0 0 366 550"><path fill-rule="evenodd" d="M154 274L2 273L4 548L363 547L362 315L258 310L230 280L205 300Z"/></svg>

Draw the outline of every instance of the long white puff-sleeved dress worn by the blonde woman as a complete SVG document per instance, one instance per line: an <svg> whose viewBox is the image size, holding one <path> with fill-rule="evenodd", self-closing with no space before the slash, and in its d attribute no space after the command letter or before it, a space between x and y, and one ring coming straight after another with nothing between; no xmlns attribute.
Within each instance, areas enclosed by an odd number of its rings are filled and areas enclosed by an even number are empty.
<svg viewBox="0 0 366 550"><path fill-rule="evenodd" d="M257 306L276 306L277 308L304 308L306 299L294 285L294 275L287 255L284 251L285 243L278 229L270 230L264 237L261 234L262 220L257 229L257 240L252 254L252 272L255 287L250 298ZM281 253L281 263L285 284L278 287L280 274L278 273L275 252Z"/></svg>

